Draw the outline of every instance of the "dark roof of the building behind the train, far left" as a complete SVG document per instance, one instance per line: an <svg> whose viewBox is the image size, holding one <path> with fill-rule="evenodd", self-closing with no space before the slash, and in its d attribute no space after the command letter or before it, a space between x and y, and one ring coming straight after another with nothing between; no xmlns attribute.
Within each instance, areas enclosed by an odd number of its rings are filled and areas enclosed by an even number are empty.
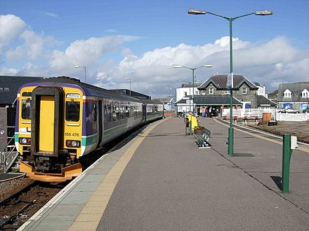
<svg viewBox="0 0 309 231"><path fill-rule="evenodd" d="M43 77L0 76L0 104L13 104L18 89L25 83L36 82Z"/></svg>

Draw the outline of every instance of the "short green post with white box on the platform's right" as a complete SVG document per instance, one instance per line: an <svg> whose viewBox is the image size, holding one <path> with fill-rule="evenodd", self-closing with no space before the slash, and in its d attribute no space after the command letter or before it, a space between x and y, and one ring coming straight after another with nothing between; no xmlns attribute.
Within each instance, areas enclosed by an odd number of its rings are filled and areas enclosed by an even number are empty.
<svg viewBox="0 0 309 231"><path fill-rule="evenodd" d="M293 149L297 148L297 137L283 135L282 149L282 192L289 193L289 167Z"/></svg>

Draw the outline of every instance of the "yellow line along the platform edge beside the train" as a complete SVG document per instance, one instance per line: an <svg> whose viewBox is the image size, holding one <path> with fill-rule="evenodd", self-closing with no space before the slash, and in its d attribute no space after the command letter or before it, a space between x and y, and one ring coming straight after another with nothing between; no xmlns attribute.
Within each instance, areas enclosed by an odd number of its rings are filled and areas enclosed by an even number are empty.
<svg viewBox="0 0 309 231"><path fill-rule="evenodd" d="M166 120L166 119L164 119ZM150 128L146 128L141 136L126 150L124 155L118 160L118 162L110 169L110 172L105 176L105 179L101 181L96 191L91 196L90 200L86 203L84 209L81 211L77 219L70 227L71 231L95 231L98 228L100 220L104 214L110 197L114 192L114 188L120 179L121 174L124 172L126 165L128 165L133 154L140 144L143 142L145 137L160 123L161 120Z"/></svg>

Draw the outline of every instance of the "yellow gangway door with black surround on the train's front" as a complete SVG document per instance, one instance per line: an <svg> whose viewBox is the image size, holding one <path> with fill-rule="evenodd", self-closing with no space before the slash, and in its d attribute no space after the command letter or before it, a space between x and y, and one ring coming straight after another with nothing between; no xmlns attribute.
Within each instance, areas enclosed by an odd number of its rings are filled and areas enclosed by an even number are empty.
<svg viewBox="0 0 309 231"><path fill-rule="evenodd" d="M60 87L32 91L31 151L34 155L58 156L62 148L64 97Z"/></svg>

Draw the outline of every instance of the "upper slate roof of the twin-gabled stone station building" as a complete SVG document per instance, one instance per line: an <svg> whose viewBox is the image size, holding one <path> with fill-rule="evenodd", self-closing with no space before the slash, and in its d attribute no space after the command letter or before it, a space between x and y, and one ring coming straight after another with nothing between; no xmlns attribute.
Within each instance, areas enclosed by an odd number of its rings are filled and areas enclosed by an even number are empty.
<svg viewBox="0 0 309 231"><path fill-rule="evenodd" d="M206 80L204 83L202 83L197 89L202 90L206 88L210 83L213 83L216 87L220 89L227 89L226 84L228 82L228 73L216 73L211 76L208 80ZM234 73L233 74L233 89L237 89L241 87L243 83L246 83L250 90L258 90L258 87L254 85L250 80L245 78L240 73Z"/></svg>

